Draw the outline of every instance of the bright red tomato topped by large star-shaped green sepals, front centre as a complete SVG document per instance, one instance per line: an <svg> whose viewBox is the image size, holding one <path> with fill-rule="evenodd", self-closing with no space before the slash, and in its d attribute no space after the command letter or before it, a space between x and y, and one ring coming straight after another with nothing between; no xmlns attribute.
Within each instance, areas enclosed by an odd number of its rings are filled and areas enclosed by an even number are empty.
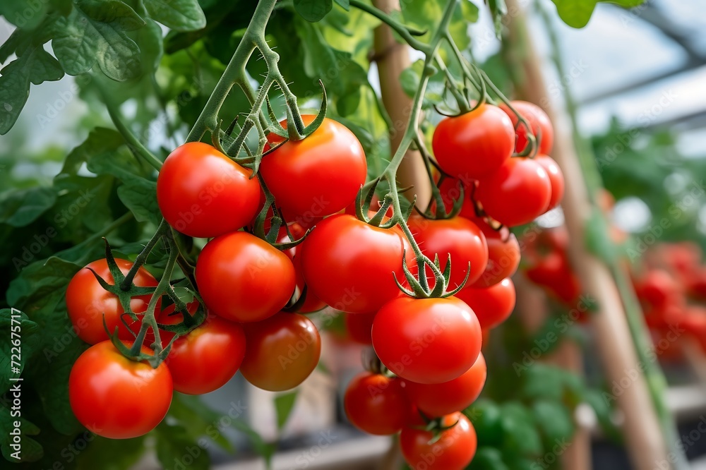
<svg viewBox="0 0 706 470"><path fill-rule="evenodd" d="M373 321L373 348L393 373L417 383L441 383L465 373L481 351L481 327L463 301L400 297Z"/></svg>

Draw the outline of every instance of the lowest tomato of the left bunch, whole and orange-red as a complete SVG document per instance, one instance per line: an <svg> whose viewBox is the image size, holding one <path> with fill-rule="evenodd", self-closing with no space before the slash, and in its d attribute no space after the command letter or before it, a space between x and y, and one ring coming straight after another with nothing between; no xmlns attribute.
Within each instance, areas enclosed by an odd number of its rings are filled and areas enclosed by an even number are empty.
<svg viewBox="0 0 706 470"><path fill-rule="evenodd" d="M152 354L147 347L143 353ZM172 375L166 364L153 369L131 361L109 341L81 354L68 378L73 414L104 438L136 438L162 421L172 403Z"/></svg>

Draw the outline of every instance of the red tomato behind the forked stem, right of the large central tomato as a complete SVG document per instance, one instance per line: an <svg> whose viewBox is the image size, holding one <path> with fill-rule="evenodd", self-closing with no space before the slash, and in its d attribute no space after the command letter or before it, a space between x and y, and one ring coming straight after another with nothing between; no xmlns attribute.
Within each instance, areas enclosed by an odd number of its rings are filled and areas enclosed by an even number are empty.
<svg viewBox="0 0 706 470"><path fill-rule="evenodd" d="M450 219L425 219L419 215L409 217L407 222L421 251L433 260L438 254L441 270L451 256L451 275L448 290L459 286L468 273L467 284L475 282L488 264L488 244L481 229L463 217ZM470 269L469 269L470 263ZM427 268L427 277L433 285L433 274Z"/></svg>

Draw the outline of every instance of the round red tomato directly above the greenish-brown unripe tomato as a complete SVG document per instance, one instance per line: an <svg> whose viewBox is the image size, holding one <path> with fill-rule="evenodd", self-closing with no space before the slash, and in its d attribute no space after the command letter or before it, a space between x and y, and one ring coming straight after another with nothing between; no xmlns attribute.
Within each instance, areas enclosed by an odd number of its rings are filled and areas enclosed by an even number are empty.
<svg viewBox="0 0 706 470"><path fill-rule="evenodd" d="M256 322L287 305L296 273L285 253L236 231L206 243L196 260L196 282L209 311L234 322Z"/></svg>

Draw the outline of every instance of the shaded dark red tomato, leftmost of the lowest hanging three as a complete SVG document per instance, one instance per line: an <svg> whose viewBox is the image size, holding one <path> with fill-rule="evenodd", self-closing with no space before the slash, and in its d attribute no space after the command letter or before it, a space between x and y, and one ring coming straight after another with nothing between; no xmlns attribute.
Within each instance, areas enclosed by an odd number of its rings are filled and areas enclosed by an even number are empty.
<svg viewBox="0 0 706 470"><path fill-rule="evenodd" d="M398 433L412 411L402 380L369 372L351 380L343 406L356 428L375 435Z"/></svg>

